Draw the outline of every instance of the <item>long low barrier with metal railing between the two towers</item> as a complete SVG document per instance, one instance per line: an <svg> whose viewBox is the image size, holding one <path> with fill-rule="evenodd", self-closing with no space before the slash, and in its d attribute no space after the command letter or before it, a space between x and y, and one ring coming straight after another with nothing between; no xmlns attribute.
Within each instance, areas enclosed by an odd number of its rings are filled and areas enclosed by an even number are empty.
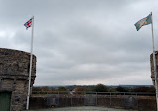
<svg viewBox="0 0 158 111"><path fill-rule="evenodd" d="M155 93L142 92L33 91L31 100L33 101L30 105L32 109L36 107L105 106L126 109L142 108L150 111L156 106Z"/></svg>

